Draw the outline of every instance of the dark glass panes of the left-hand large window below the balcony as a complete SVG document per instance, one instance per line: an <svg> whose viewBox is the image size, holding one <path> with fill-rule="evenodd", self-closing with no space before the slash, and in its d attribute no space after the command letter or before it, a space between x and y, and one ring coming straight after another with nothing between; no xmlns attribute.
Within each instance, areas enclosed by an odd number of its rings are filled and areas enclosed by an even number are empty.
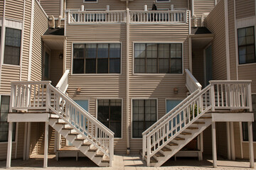
<svg viewBox="0 0 256 170"><path fill-rule="evenodd" d="M119 74L120 44L74 44L73 74Z"/></svg>

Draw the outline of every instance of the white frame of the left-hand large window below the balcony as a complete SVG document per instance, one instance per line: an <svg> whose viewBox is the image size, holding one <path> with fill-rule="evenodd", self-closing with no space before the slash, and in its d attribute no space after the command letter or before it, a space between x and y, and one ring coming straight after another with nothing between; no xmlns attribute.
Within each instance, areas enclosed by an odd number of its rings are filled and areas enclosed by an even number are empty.
<svg viewBox="0 0 256 170"><path fill-rule="evenodd" d="M79 74L74 74L73 73L73 64L74 64L74 45L75 44L119 44L120 45L120 72L119 73L79 73ZM71 49L71 52L72 52L72 56L71 56L71 75L120 75L122 74L122 42L117 42L117 41L114 41L114 42L100 42L100 41L97 41L97 42L72 42L72 49ZM110 56L106 59L110 59ZM116 58L112 58L112 59L116 59ZM85 60L85 58L84 58ZM95 58L95 60L97 60L97 57ZM85 64L85 63L84 63ZM97 63L95 64L97 65ZM85 68L84 68L85 69ZM96 68L97 69L97 68ZM108 68L110 69L110 68ZM97 70L96 70L97 72Z"/></svg>

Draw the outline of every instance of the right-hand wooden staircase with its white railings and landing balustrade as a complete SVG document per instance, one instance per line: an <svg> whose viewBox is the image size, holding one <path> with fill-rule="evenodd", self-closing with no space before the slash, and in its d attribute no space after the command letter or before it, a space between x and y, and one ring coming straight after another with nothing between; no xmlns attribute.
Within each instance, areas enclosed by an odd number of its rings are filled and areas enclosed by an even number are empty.
<svg viewBox="0 0 256 170"><path fill-rule="evenodd" d="M210 81L201 85L186 70L190 95L142 133L147 166L161 166L212 124L211 113L251 109L251 81Z"/></svg>

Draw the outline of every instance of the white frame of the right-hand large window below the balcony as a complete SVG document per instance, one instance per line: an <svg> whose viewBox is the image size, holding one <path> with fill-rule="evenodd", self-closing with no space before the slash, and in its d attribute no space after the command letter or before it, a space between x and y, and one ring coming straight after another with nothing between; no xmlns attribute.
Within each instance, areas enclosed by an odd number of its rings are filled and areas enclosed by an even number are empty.
<svg viewBox="0 0 256 170"><path fill-rule="evenodd" d="M181 73L135 73L135 44L181 44ZM170 41L170 42L145 42L145 41L135 41L132 43L132 74L133 75L183 75L184 74L184 41ZM171 67L169 68L171 69Z"/></svg>

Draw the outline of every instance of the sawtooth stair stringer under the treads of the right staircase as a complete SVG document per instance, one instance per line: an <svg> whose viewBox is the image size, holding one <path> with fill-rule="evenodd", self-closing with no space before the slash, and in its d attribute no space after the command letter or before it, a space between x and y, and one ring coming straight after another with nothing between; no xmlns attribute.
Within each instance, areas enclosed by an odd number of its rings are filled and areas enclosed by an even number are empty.
<svg viewBox="0 0 256 170"><path fill-rule="evenodd" d="M164 157L154 157L158 162L150 163L151 166L159 167L162 164L164 164L164 162L168 161L171 157L174 156L174 154L176 154L183 147L185 147L188 144L188 142L191 142L191 140L193 140L196 136L203 132L203 130L206 130L206 128L208 128L208 126L211 125L212 119L205 119L204 122L205 124L197 126L198 130L194 130L196 132L193 132L192 135L184 136L183 138L185 138L185 140L179 140L177 142L175 141L175 143L177 143L178 146L172 146L170 152L161 152L164 154ZM171 140L171 142L174 142L174 140Z"/></svg>

